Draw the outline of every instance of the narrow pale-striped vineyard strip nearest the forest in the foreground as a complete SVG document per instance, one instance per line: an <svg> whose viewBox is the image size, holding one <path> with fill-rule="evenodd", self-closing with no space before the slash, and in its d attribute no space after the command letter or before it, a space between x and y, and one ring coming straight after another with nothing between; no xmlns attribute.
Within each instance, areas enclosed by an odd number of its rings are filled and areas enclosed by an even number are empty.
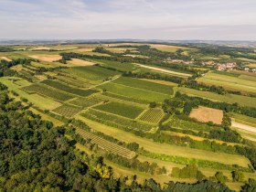
<svg viewBox="0 0 256 192"><path fill-rule="evenodd" d="M112 154L121 155L125 158L132 159L136 154L129 149L124 148L118 144L112 144L111 142L96 136L93 133L86 132L82 129L77 128L76 132L80 134L84 139L91 139L91 143L98 144L101 149L111 152Z"/></svg>

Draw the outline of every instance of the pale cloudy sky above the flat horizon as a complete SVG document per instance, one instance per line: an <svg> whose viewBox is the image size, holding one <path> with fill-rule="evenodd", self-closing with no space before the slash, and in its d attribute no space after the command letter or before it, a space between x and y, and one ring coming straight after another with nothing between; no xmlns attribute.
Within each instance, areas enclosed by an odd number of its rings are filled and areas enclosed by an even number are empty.
<svg viewBox="0 0 256 192"><path fill-rule="evenodd" d="M256 40L256 0L0 0L0 38Z"/></svg>

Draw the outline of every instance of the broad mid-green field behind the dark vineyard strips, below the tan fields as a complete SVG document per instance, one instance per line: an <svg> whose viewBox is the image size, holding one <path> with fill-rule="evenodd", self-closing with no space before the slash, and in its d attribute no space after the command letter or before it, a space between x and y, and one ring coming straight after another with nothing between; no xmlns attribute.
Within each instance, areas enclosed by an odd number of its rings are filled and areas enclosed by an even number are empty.
<svg viewBox="0 0 256 192"><path fill-rule="evenodd" d="M110 69L103 69L97 66L75 67L63 69L63 71L88 80L105 80L120 73Z"/></svg>

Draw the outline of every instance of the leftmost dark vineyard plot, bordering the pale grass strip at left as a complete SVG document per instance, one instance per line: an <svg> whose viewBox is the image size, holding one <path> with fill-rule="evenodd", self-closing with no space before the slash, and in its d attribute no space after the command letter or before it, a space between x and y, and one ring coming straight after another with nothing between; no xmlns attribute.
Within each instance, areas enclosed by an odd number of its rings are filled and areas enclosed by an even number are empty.
<svg viewBox="0 0 256 192"><path fill-rule="evenodd" d="M45 96L48 96L50 98L53 98L53 99L59 100L59 101L68 101L68 100L74 98L74 96L72 96L68 93L61 92L61 91L58 91L55 89L51 89L51 88L44 86L42 84L39 84L39 83L24 87L24 88L22 88L22 90L27 91L29 93L36 92L38 94L45 95Z"/></svg>

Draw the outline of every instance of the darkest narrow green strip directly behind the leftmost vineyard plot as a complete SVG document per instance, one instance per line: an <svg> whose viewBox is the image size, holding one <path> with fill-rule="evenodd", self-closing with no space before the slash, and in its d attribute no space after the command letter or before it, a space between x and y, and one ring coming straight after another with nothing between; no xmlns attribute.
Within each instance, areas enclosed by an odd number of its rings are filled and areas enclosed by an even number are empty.
<svg viewBox="0 0 256 192"><path fill-rule="evenodd" d="M98 91L92 90L92 89L91 90L81 90L78 88L73 88L73 87L70 87L69 85L59 82L59 80L43 80L43 81L41 81L41 83L44 83L44 84L46 84L50 87L53 87L55 89L58 89L60 91L66 91L66 92L69 92L69 93L72 93L75 95L79 95L81 97L87 97L93 93L98 92Z"/></svg>

